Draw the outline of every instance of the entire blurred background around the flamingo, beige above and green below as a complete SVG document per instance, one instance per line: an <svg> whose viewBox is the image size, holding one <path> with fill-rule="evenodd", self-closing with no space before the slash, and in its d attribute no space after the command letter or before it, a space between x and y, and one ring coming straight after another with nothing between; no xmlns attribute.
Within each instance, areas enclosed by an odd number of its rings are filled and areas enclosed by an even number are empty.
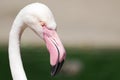
<svg viewBox="0 0 120 80"><path fill-rule="evenodd" d="M26 29L21 56L28 80L120 80L119 0L1 0L0 80L12 80L7 52L12 23L18 12L33 2L52 10L67 58L61 72L51 77L44 42Z"/></svg>

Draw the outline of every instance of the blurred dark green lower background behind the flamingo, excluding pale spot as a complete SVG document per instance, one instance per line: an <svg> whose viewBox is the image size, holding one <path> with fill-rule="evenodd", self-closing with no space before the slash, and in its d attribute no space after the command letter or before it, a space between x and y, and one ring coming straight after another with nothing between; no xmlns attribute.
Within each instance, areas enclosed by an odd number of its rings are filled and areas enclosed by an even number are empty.
<svg viewBox="0 0 120 80"><path fill-rule="evenodd" d="M50 75L49 54L44 46L21 47L28 80L120 80L120 50L65 47L67 61L78 60L84 67L78 74ZM7 46L0 46L0 80L12 80Z"/></svg>

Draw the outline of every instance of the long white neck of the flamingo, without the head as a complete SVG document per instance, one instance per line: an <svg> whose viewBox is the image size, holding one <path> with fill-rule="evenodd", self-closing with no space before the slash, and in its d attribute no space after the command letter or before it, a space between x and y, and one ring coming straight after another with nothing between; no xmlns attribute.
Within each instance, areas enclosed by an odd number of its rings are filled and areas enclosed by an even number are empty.
<svg viewBox="0 0 120 80"><path fill-rule="evenodd" d="M25 27L16 19L9 35L9 61L13 80L27 80L20 55L20 38Z"/></svg>

